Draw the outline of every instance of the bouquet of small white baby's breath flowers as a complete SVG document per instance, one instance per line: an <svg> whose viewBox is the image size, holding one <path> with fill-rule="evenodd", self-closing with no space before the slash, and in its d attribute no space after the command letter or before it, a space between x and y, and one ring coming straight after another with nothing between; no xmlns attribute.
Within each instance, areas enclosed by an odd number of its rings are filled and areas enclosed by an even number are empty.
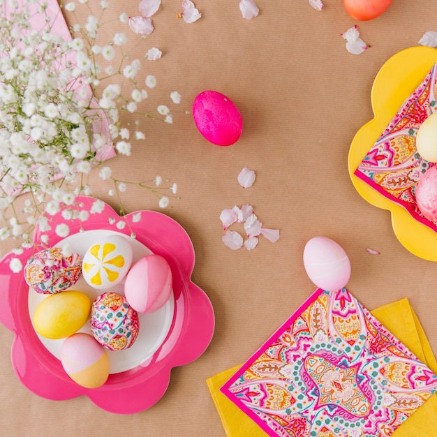
<svg viewBox="0 0 437 437"><path fill-rule="evenodd" d="M0 239L21 239L24 246L38 217L72 205L77 195L92 195L86 183L91 168L116 153L130 155L132 141L145 139L140 121L132 132L132 124L121 124L121 112L155 118L140 105L156 78L138 84L140 60L116 53L126 45L126 34L117 32L106 43L98 39L101 18L90 13L83 26L70 29L72 37L57 0L52 3L0 0ZM109 4L99 6L103 13ZM71 1L64 8L74 13L76 5ZM127 23L122 14L119 24L128 29ZM113 59L121 59L117 68ZM131 85L127 98L118 77ZM180 101L177 91L171 98ZM166 105L159 105L157 117L172 122ZM149 184L115 179L108 165L99 175L112 180L110 194L119 199L127 184L136 184L158 195L160 207L169 203L161 190L177 190L176 184L163 187L161 177ZM17 210L15 200L23 193L24 208Z"/></svg>

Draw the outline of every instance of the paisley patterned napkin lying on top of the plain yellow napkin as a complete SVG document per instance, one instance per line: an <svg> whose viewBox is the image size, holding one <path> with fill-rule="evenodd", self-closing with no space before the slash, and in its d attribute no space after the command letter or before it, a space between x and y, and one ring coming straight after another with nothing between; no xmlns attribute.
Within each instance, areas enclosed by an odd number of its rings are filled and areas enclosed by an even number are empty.
<svg viewBox="0 0 437 437"><path fill-rule="evenodd" d="M221 387L267 435L295 437L391 435L436 390L429 367L344 288L316 290Z"/></svg>

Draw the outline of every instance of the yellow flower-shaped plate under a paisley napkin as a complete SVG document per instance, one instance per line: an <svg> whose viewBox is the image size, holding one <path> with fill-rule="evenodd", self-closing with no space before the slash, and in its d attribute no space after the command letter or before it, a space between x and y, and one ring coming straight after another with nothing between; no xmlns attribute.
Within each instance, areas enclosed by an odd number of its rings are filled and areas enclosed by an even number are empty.
<svg viewBox="0 0 437 437"><path fill-rule="evenodd" d="M401 205L392 202L355 176L354 172L436 61L437 50L431 47L410 47L388 59L376 75L371 90L375 117L356 133L348 156L349 175L358 193L371 205L391 212L394 234L408 251L432 261L437 261L436 232L410 216Z"/></svg>

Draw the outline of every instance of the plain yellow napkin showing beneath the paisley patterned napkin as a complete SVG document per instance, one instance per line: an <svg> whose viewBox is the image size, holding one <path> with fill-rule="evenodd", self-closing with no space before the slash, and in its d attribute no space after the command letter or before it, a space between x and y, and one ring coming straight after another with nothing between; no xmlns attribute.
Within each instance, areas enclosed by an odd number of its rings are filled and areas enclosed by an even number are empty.
<svg viewBox="0 0 437 437"><path fill-rule="evenodd" d="M381 306L371 311L394 336L396 336L419 360L437 373L437 362L424 330L408 299ZM239 369L218 373L207 379L209 391L220 415L228 437L268 437L253 420L220 392L220 387ZM437 437L437 393L433 394L394 434L395 437Z"/></svg>

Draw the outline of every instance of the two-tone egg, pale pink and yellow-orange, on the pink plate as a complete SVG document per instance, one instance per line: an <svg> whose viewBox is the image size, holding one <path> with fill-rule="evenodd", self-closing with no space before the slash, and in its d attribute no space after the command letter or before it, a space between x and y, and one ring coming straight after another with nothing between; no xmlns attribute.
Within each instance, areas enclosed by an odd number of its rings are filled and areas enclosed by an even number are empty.
<svg viewBox="0 0 437 437"><path fill-rule="evenodd" d="M61 364L67 375L82 387L101 387L108 380L108 354L93 336L84 332L77 332L62 343Z"/></svg>

